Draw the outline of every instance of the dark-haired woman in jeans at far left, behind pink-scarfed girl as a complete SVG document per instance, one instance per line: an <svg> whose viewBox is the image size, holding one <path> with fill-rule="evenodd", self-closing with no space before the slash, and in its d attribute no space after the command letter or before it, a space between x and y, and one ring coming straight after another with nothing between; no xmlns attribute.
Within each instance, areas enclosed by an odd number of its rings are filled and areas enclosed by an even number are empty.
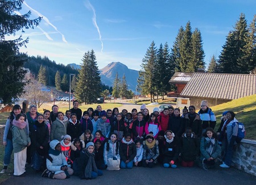
<svg viewBox="0 0 256 185"><path fill-rule="evenodd" d="M11 161L11 153L13 153L13 133L11 132L11 127L13 127L13 120L19 113L23 113L22 108L18 104L15 104L5 124L5 131L3 132L5 156L3 158L3 169L0 172L1 174L6 173L7 167ZM28 124L26 125L26 133L28 134Z"/></svg>

